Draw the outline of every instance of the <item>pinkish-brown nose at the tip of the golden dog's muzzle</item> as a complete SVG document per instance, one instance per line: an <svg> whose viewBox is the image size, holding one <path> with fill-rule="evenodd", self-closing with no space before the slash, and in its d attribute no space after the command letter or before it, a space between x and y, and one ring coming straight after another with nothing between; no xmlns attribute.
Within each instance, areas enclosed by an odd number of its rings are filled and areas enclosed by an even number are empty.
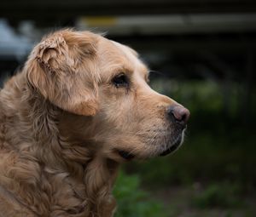
<svg viewBox="0 0 256 217"><path fill-rule="evenodd" d="M170 106L167 109L168 116L171 117L172 121L181 124L183 127L186 126L190 112L183 106Z"/></svg>

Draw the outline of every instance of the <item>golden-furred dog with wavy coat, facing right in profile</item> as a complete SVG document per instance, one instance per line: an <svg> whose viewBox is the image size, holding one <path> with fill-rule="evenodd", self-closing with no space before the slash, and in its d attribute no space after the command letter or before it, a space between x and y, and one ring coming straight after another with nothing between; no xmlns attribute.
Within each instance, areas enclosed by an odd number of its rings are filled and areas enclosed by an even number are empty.
<svg viewBox="0 0 256 217"><path fill-rule="evenodd" d="M176 150L189 119L148 71L90 31L44 37L0 92L0 216L113 216L119 164Z"/></svg>

